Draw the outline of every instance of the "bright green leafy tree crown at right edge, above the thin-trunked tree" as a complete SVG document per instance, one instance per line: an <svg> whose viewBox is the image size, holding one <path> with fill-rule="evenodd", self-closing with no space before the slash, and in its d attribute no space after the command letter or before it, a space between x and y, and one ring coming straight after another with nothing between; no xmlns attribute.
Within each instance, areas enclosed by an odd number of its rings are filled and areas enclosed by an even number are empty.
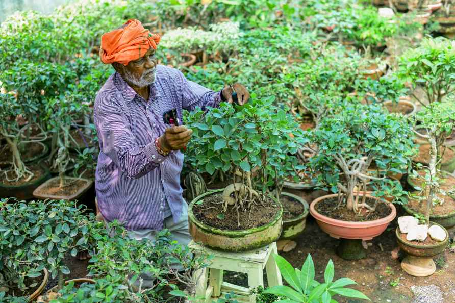
<svg viewBox="0 0 455 303"><path fill-rule="evenodd" d="M400 77L411 85L411 92L420 86L429 104L441 102L453 95L451 86L455 79L455 46L443 37L423 39L420 46L408 50L399 59ZM412 93L426 106L422 97Z"/></svg>

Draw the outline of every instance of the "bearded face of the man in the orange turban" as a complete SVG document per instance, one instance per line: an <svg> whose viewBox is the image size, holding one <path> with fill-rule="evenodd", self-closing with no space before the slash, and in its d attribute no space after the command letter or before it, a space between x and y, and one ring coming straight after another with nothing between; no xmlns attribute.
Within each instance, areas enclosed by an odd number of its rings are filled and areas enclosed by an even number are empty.
<svg viewBox="0 0 455 303"><path fill-rule="evenodd" d="M128 65L122 65L120 74L123 79L138 87L145 87L155 81L157 59L155 49L150 48L145 55Z"/></svg>

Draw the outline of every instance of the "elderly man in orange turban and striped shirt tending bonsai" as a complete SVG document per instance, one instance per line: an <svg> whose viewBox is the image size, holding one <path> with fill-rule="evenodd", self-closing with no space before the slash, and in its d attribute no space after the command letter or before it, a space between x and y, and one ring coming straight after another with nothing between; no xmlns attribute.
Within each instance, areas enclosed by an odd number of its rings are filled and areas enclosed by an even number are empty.
<svg viewBox="0 0 455 303"><path fill-rule="evenodd" d="M116 72L94 105L100 147L96 196L104 219L119 220L131 237L154 239L167 228L173 240L186 245L191 237L180 186L180 150L192 131L169 124L163 115L175 109L181 121L182 109L232 102L234 90L243 104L249 94L240 84L214 92L188 81L177 69L157 65L159 41L159 35L135 19L102 37L101 60Z"/></svg>

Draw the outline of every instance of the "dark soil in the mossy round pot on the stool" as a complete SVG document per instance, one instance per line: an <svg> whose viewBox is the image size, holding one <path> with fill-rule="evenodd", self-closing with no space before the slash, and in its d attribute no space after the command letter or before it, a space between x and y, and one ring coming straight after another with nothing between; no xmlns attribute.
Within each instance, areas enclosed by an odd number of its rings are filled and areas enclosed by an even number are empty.
<svg viewBox="0 0 455 303"><path fill-rule="evenodd" d="M231 231L252 229L267 224L280 209L272 199L269 199L264 201L264 205L253 206L251 211L239 210L240 226L237 222L237 212L232 206L228 206L225 213L222 210L221 193L205 196L202 204L193 206L193 213L199 221L214 228Z"/></svg>

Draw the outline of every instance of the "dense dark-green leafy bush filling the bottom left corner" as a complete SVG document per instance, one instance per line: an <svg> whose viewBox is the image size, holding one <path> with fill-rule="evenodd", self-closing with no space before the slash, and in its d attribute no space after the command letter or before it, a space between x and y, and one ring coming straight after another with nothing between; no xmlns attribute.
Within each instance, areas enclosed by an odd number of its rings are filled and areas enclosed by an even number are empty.
<svg viewBox="0 0 455 303"><path fill-rule="evenodd" d="M14 198L0 200L0 286L17 285L21 291L26 277L42 275L46 268L52 279L58 276L63 286L63 274L70 273L64 265L66 253L72 256L78 249L88 249L106 229L95 221L93 214L83 214L82 205L67 200L34 200L29 203Z"/></svg>

